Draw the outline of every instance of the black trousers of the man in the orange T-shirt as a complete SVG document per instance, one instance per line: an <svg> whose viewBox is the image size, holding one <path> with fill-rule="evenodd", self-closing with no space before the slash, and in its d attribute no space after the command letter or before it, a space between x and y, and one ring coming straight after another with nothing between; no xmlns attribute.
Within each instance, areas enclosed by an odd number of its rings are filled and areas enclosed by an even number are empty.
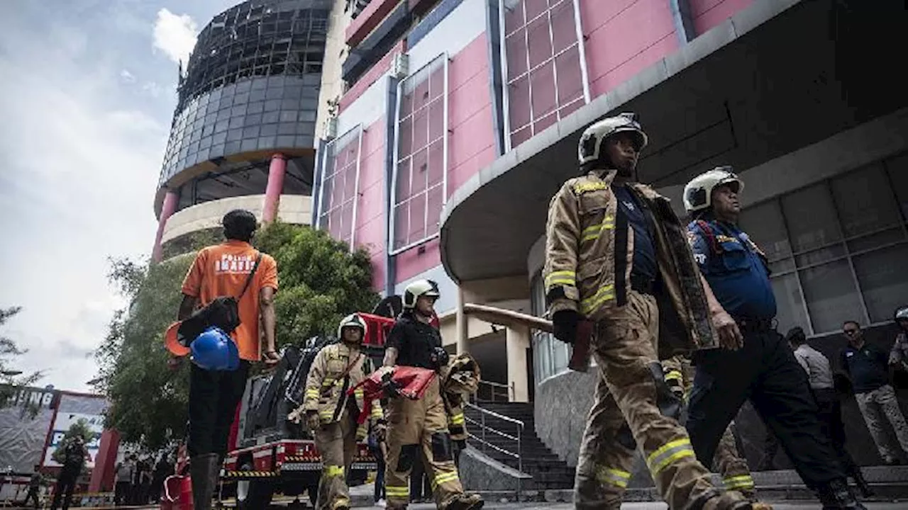
<svg viewBox="0 0 908 510"><path fill-rule="evenodd" d="M249 377L249 361L232 372L192 364L189 375L189 456L227 453L227 439Z"/></svg>

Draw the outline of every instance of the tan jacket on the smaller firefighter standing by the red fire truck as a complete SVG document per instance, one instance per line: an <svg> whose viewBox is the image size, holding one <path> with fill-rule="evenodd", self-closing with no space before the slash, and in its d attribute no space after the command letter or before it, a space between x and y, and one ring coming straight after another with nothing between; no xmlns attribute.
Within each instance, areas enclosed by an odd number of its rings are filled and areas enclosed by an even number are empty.
<svg viewBox="0 0 908 510"><path fill-rule="evenodd" d="M360 384L371 372L372 363L360 348L350 349L343 342L322 348L309 368L302 400L303 409L318 411L322 424L340 420L350 398L347 390ZM353 397L356 399L356 408L362 410L362 388L357 388ZM373 400L371 407L371 420L383 420L380 402ZM368 423L363 425L368 426Z"/></svg>

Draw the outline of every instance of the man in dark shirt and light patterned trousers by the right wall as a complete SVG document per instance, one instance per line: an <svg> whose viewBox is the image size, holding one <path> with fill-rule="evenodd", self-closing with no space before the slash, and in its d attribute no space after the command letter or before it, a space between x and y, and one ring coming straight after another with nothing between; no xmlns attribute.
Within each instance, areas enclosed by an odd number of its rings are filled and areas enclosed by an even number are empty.
<svg viewBox="0 0 908 510"><path fill-rule="evenodd" d="M890 444L883 426L883 421L889 421L901 449L908 452L908 424L899 409L895 390L889 384L890 356L883 349L864 341L861 325L854 320L846 320L842 330L848 345L840 352L840 361L852 380L854 398L864 416L870 436L873 437L873 443L886 465L902 464L900 448Z"/></svg>

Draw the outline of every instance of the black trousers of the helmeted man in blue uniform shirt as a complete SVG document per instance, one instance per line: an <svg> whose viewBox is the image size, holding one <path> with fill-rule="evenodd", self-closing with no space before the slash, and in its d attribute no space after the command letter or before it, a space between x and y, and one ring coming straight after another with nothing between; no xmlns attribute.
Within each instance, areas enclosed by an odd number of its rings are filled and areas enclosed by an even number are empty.
<svg viewBox="0 0 908 510"><path fill-rule="evenodd" d="M805 485L817 489L844 479L804 368L785 338L775 330L742 333L744 348L700 351L694 358L687 432L697 458L713 458L725 427L749 398Z"/></svg>

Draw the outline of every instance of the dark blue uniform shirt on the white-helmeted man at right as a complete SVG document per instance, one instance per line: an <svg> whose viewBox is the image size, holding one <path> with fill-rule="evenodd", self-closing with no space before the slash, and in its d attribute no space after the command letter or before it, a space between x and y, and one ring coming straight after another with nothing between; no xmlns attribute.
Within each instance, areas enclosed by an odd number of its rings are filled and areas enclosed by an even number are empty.
<svg viewBox="0 0 908 510"><path fill-rule="evenodd" d="M706 223L712 230L716 248L696 221L687 225L687 233L694 259L722 308L735 318L774 318L775 295L769 271L750 238L734 225Z"/></svg>

